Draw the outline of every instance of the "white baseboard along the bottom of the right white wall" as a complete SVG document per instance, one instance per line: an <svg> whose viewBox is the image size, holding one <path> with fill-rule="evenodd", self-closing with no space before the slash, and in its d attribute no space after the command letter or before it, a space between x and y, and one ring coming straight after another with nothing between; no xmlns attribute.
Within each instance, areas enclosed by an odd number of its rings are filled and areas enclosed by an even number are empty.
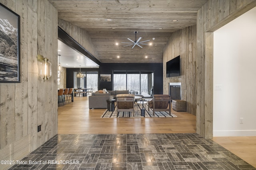
<svg viewBox="0 0 256 170"><path fill-rule="evenodd" d="M213 131L214 137L256 136L256 130Z"/></svg>

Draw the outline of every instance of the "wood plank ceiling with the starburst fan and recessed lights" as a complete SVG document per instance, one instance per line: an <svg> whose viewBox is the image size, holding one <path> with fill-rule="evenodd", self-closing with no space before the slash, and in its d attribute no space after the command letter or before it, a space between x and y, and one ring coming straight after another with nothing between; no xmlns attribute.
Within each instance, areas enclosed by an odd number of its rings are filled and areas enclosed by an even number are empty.
<svg viewBox="0 0 256 170"><path fill-rule="evenodd" d="M162 63L170 34L195 25L197 10L207 1L49 0L59 18L89 32L102 63ZM134 31L137 40L142 37L140 41L150 40L146 43L152 45L124 47L128 44L121 42L131 42L127 38L135 41Z"/></svg>

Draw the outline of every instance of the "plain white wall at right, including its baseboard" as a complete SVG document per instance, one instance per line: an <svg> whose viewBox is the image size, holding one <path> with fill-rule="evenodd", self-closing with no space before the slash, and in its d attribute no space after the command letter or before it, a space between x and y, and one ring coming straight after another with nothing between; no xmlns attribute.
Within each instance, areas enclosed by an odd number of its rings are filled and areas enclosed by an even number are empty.
<svg viewBox="0 0 256 170"><path fill-rule="evenodd" d="M214 32L213 77L213 136L256 136L256 8Z"/></svg>

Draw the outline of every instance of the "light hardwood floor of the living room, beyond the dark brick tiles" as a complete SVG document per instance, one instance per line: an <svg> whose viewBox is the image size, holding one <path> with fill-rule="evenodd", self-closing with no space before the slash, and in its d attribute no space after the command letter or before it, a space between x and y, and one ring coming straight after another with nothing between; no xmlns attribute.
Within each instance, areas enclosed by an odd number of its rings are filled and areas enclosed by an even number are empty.
<svg viewBox="0 0 256 170"><path fill-rule="evenodd" d="M88 97L58 107L58 134L196 133L196 116L172 111L178 117L101 118L106 109L89 109Z"/></svg>

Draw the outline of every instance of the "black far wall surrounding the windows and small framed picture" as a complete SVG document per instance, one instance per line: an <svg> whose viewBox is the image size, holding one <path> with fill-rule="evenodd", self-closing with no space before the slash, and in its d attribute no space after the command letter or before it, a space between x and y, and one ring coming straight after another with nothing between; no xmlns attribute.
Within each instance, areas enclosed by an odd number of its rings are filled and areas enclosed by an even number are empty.
<svg viewBox="0 0 256 170"><path fill-rule="evenodd" d="M163 64L162 63L101 63L100 68L81 68L84 71L98 71L98 90L106 88L113 90L112 76L111 82L101 82L100 74L112 74L112 70L126 71L154 71L154 94L163 94ZM74 71L80 68L67 68L67 88L74 86Z"/></svg>

